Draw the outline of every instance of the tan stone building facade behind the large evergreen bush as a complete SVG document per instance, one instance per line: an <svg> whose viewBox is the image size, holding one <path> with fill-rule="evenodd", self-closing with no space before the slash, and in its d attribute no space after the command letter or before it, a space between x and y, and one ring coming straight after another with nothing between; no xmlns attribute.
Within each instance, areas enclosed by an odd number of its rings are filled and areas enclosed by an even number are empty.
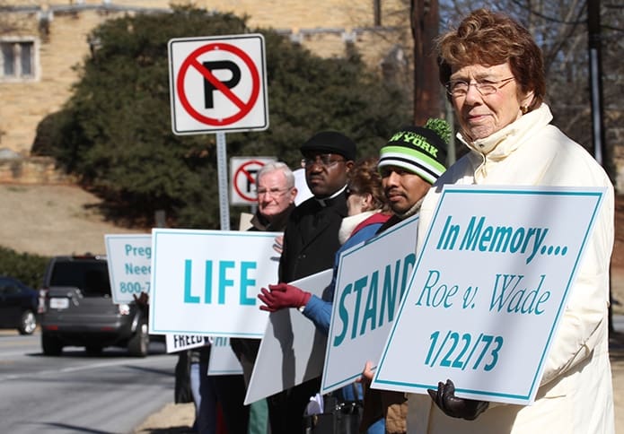
<svg viewBox="0 0 624 434"><path fill-rule="evenodd" d="M355 44L365 61L381 72L388 59L405 62L411 55L405 3L203 0L193 5L248 16L251 28L275 29L320 56L343 56L347 44ZM0 6L4 11L0 13L0 160L30 156L38 124L71 94L78 79L75 66L90 55L88 35L93 28L125 14L170 12L166 0L70 0L70 4L0 0ZM11 167L14 175L14 161Z"/></svg>

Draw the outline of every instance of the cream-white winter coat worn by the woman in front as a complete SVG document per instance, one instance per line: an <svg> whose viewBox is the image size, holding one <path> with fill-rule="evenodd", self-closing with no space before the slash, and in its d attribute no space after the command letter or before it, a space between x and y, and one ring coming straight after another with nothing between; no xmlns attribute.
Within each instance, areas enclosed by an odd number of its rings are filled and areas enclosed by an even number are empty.
<svg viewBox="0 0 624 434"><path fill-rule="evenodd" d="M535 402L490 404L477 420L464 421L446 416L428 395L410 395L410 434L611 434L615 430L607 314L613 187L582 146L549 125L551 119L548 106L542 104L486 139L469 144L460 136L470 152L426 195L418 228L421 245L441 191L436 187L444 184L608 187Z"/></svg>

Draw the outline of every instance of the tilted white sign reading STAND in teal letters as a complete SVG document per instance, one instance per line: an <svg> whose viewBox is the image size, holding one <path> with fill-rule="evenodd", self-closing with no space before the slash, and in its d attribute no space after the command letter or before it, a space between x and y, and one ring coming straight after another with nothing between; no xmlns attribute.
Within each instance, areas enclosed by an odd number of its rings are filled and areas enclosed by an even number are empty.
<svg viewBox="0 0 624 434"><path fill-rule="evenodd" d="M376 369L416 264L417 231L412 217L340 255L321 394L353 383L368 360Z"/></svg>

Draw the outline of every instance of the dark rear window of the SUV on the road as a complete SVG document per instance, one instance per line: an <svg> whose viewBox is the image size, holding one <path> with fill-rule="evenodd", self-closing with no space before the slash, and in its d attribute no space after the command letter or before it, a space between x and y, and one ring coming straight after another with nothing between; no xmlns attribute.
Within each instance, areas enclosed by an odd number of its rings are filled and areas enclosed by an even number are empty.
<svg viewBox="0 0 624 434"><path fill-rule="evenodd" d="M110 296L109 270L105 261L59 261L50 286L75 286L84 296Z"/></svg>

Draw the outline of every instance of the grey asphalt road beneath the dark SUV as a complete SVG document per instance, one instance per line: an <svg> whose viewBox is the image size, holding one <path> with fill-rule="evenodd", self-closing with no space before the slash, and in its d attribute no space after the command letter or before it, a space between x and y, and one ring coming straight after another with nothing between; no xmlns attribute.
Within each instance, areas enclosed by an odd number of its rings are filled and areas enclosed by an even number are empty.
<svg viewBox="0 0 624 434"><path fill-rule="evenodd" d="M60 357L40 350L39 332L0 333L0 432L133 432L173 399L176 356L154 343L145 359L107 349L99 357L67 347Z"/></svg>

